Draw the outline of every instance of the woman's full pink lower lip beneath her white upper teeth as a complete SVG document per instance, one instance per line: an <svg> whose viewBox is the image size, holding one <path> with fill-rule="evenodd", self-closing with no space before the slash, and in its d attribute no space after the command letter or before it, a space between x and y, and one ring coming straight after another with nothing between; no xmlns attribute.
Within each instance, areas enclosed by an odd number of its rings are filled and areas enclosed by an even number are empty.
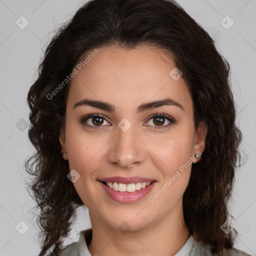
<svg viewBox="0 0 256 256"><path fill-rule="evenodd" d="M111 197L115 201L117 201L117 202L135 202L135 201L138 201L138 200L142 199L143 197L145 197L152 190L156 181L153 181L148 186L141 188L139 190L136 190L134 192L115 191L112 188L105 185L102 181L99 181L99 183L104 188L104 190L109 195L109 197Z"/></svg>

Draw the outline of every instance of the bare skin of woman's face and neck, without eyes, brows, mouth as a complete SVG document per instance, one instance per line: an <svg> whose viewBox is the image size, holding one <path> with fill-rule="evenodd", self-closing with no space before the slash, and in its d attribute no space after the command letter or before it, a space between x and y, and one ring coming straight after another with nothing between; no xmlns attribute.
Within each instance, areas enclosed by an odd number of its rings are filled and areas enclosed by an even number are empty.
<svg viewBox="0 0 256 256"><path fill-rule="evenodd" d="M182 76L174 80L169 75L175 64L164 50L111 46L98 51L71 81L65 127L59 136L70 170L80 174L73 183L75 189L89 209L93 234L88 249L91 255L143 256L158 255L160 247L162 256L174 255L189 237L182 195L191 164L154 202L148 197L194 153L203 152L207 127L201 122L195 130L192 98ZM136 114L138 105L167 97L179 102L184 110L164 105ZM83 98L113 104L115 113L87 105L73 108ZM153 122L157 117L148 117L162 112L176 123L155 129L159 127ZM79 123L82 115L92 113L105 118L100 127L93 129ZM131 123L126 131L118 127L123 118ZM164 120L162 126L169 123ZM92 118L86 123L93 125ZM97 181L111 176L142 176L157 183L144 198L121 203L111 199ZM123 221L129 224L128 232L119 230Z"/></svg>

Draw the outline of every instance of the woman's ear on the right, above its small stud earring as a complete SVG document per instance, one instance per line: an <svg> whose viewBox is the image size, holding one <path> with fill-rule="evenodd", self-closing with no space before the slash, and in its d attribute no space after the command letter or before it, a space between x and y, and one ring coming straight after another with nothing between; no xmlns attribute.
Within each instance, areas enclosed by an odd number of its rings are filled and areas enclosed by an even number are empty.
<svg viewBox="0 0 256 256"><path fill-rule="evenodd" d="M193 152L199 152L201 155L204 151L206 145L206 135L207 135L208 127L205 120L202 120L198 124L198 128L196 130Z"/></svg>

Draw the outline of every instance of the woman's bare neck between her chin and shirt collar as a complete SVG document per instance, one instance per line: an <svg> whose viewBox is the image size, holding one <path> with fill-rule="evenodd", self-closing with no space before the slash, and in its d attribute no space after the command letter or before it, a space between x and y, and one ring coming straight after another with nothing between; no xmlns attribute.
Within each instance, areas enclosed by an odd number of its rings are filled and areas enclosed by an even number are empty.
<svg viewBox="0 0 256 256"><path fill-rule="evenodd" d="M182 200L180 202L182 206ZM176 207L178 208L178 207ZM185 244L189 231L184 223L182 207L173 209L164 218L147 224L140 230L122 232L106 224L89 211L92 239L91 255L159 255L173 256Z"/></svg>

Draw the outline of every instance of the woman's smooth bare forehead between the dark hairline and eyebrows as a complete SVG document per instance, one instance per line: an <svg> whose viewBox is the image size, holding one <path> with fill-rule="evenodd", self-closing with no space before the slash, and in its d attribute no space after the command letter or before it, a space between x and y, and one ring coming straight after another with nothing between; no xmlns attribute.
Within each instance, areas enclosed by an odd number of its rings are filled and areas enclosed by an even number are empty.
<svg viewBox="0 0 256 256"><path fill-rule="evenodd" d="M184 109L192 101L182 76L174 80L169 74L175 68L166 50L140 46L121 49L99 47L98 53L86 52L87 57L71 80L67 104L74 105L83 98L108 101L121 108L170 97ZM93 52L93 50L91 50ZM118 107L117 107L118 108Z"/></svg>

